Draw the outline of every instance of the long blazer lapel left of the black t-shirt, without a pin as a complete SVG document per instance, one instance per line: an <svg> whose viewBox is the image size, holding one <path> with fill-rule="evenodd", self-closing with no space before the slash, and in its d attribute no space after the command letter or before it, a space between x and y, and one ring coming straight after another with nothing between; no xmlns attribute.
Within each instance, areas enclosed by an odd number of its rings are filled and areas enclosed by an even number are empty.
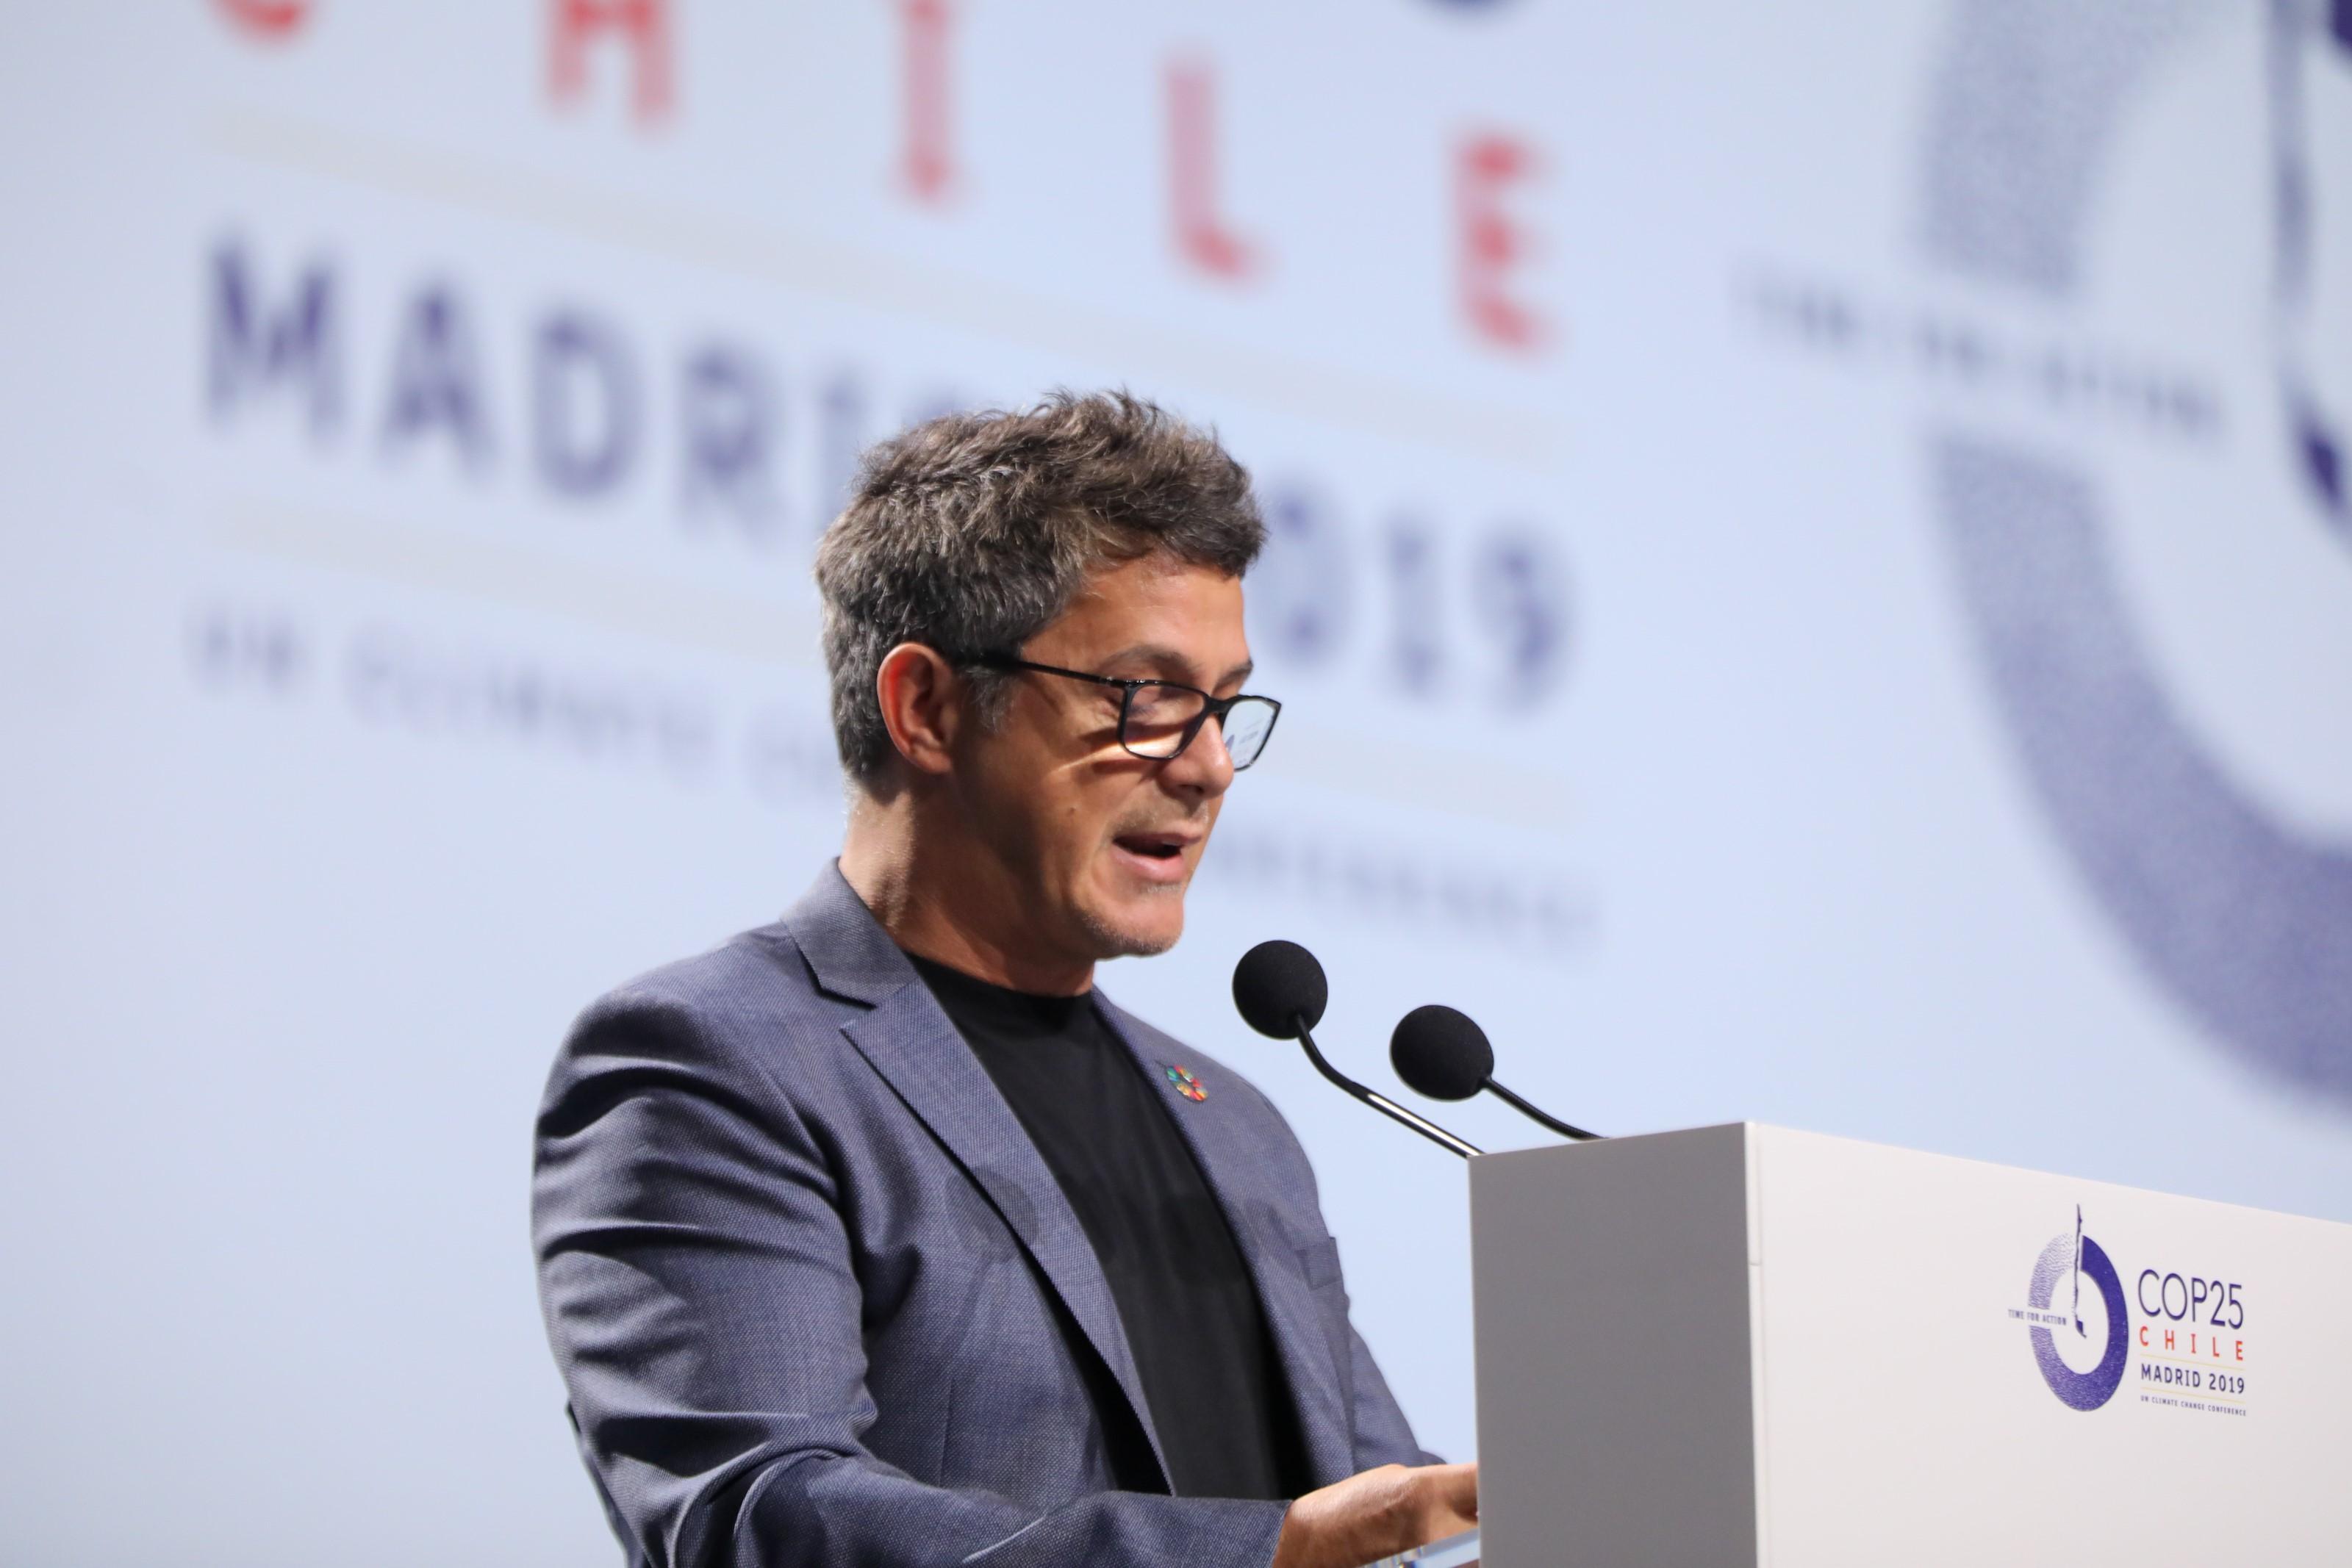
<svg viewBox="0 0 2352 1568"><path fill-rule="evenodd" d="M873 1009L842 1025L842 1032L1004 1215L1127 1394L1167 1481L1167 1453L1143 1399L1110 1281L1103 1279L1103 1265L1061 1182L997 1093L995 1079L840 867L818 877L809 896L786 914L786 926L818 985Z"/></svg>

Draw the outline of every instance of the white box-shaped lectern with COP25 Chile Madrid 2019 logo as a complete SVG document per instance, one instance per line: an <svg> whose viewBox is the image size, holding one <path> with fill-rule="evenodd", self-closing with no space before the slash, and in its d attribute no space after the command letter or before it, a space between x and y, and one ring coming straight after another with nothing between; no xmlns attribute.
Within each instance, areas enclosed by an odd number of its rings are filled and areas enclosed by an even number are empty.
<svg viewBox="0 0 2352 1568"><path fill-rule="evenodd" d="M2352 1225L1743 1124L1470 1232L1484 1568L2352 1563Z"/></svg>

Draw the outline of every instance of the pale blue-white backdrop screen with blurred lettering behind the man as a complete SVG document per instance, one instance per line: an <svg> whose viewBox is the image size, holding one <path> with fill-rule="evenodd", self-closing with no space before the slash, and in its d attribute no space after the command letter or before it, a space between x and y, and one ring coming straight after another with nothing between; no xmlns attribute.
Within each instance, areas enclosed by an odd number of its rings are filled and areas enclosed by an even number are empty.
<svg viewBox="0 0 2352 1568"><path fill-rule="evenodd" d="M2352 1218L2352 529L2281 395L2352 411L2317 24L2279 129L2284 24L2220 0L675 0L652 108L619 35L555 85L562 9L7 9L0 1559L612 1559L532 1291L548 1058L837 842L844 454L1058 383L1216 421L1277 515L1279 743L1105 990L1291 1114L1428 1443L1472 1448L1463 1175L1240 1027L1265 936L1376 1084L1442 999L1606 1131ZM1181 242L1169 71L1240 277ZM1477 139L1529 174L1465 195ZM2333 273L2281 310L2305 143ZM2136 879L2206 818L2136 804L2124 719L2016 717L2060 646L1997 696L1952 442L2096 496L2133 668L2279 856Z"/></svg>

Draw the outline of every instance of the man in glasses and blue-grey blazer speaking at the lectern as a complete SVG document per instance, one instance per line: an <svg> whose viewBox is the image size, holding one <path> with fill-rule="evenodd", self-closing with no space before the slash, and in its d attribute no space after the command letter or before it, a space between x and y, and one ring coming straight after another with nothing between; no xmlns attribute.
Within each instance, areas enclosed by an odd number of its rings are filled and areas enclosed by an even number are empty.
<svg viewBox="0 0 2352 1568"><path fill-rule="evenodd" d="M635 1563L1352 1568L1463 1530L1289 1126L1120 1011L1232 776L1265 529L1127 395L868 454L818 545L837 865L590 1006L534 1241Z"/></svg>

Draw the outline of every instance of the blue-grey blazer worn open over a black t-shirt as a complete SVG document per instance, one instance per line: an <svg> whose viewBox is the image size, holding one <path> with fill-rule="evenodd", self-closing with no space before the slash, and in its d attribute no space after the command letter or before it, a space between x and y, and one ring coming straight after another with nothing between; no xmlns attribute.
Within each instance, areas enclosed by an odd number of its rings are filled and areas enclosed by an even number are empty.
<svg viewBox="0 0 2352 1568"><path fill-rule="evenodd" d="M1232 1225L1315 1483L1430 1462L1348 1324L1279 1112L1103 1013ZM1207 1098L1178 1098L1169 1065ZM1120 1439L1089 1389L1124 1399L1162 1483L1167 1462L1087 1232L837 867L779 924L581 1016L539 1114L532 1239L633 1563L1272 1556L1279 1502L1112 1490Z"/></svg>

